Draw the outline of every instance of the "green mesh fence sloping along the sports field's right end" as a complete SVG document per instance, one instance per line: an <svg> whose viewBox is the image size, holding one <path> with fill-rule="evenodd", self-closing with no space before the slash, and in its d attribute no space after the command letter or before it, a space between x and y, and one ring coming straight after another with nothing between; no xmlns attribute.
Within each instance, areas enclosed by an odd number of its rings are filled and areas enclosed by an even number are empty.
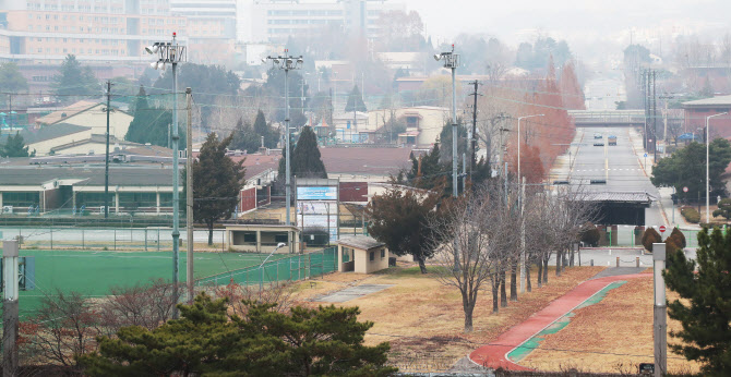
<svg viewBox="0 0 731 377"><path fill-rule="evenodd" d="M196 281L197 285L220 285L230 282L241 285L264 285L277 281L298 281L319 277L336 269L337 247L321 252L297 254L260 266L216 273Z"/></svg>

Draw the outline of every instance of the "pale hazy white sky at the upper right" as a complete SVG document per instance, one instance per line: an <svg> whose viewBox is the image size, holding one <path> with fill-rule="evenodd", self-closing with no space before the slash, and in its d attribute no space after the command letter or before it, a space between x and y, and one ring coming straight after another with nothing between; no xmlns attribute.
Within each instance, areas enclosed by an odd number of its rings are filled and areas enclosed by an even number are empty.
<svg viewBox="0 0 731 377"><path fill-rule="evenodd" d="M421 14L427 33L447 41L487 33L517 42L538 31L570 42L731 29L731 0L392 0Z"/></svg>

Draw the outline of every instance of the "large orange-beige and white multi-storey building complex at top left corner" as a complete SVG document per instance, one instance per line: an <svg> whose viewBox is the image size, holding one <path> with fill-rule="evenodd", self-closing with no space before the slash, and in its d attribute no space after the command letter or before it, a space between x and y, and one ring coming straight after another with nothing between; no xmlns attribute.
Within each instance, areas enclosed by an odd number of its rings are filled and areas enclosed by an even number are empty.
<svg viewBox="0 0 731 377"><path fill-rule="evenodd" d="M173 32L190 61L230 59L236 0L0 0L1 60L144 62Z"/></svg>

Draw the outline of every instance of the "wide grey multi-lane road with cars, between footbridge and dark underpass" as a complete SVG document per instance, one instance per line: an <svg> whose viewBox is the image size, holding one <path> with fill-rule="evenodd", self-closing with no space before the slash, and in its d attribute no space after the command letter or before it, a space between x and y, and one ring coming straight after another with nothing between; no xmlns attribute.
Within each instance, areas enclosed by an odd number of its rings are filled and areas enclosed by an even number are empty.
<svg viewBox="0 0 731 377"><path fill-rule="evenodd" d="M616 145L609 146L609 136L616 136ZM658 190L643 172L632 148L627 127L586 127L573 162L571 183L582 184L590 192L647 192L659 197ZM595 146L595 143L603 144ZM606 184L591 184L606 180ZM652 203L645 210L645 223L663 224L660 207Z"/></svg>

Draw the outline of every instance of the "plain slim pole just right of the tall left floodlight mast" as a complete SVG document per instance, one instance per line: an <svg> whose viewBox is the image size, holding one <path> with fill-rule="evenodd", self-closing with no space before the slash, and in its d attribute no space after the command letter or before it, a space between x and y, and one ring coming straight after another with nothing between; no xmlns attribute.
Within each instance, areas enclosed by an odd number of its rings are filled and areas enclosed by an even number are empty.
<svg viewBox="0 0 731 377"><path fill-rule="evenodd" d="M193 304L195 295L193 278L193 90L185 88L185 107L188 108L188 133L185 134L185 236L188 239L187 273L188 304Z"/></svg>

